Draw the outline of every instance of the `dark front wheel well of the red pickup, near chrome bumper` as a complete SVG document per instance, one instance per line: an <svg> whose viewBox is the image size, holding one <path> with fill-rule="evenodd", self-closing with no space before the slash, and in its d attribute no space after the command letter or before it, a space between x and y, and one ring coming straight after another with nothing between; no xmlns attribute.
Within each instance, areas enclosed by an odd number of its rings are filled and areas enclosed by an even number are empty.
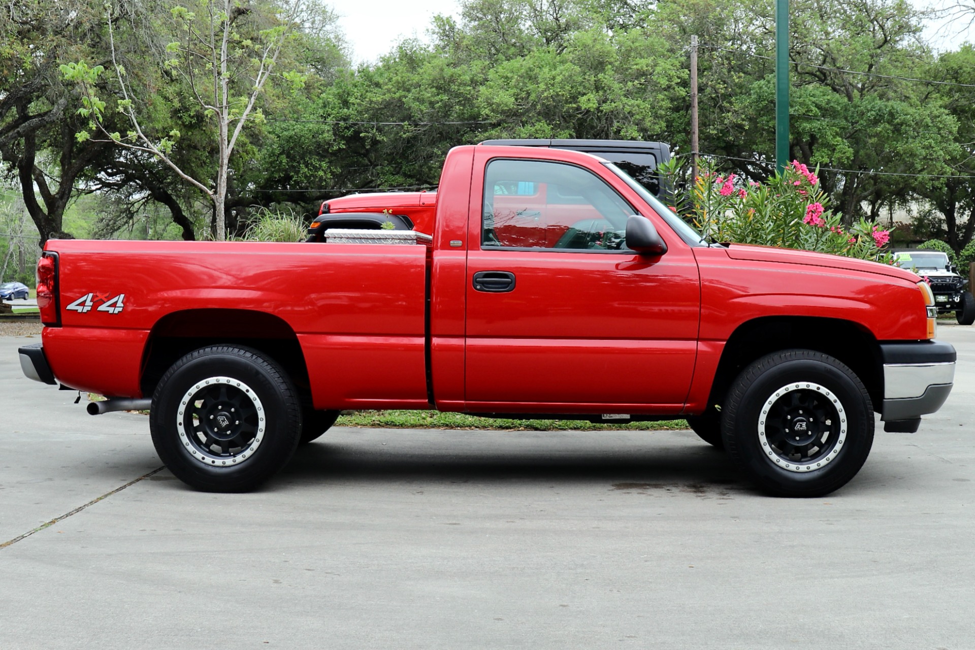
<svg viewBox="0 0 975 650"><path fill-rule="evenodd" d="M762 317L738 325L728 337L711 386L708 407L721 404L738 373L780 350L821 352L846 364L864 383L875 409L883 403L883 362L874 334L863 325L822 317Z"/></svg>

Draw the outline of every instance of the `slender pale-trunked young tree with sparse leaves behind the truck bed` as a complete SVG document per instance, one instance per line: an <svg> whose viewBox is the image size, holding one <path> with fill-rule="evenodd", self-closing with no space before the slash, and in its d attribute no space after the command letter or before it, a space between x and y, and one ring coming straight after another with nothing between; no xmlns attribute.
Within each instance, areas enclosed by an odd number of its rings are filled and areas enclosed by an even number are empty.
<svg viewBox="0 0 975 650"><path fill-rule="evenodd" d="M204 127L215 138L215 170L209 177L193 174L176 163L173 150L180 132L153 133L146 125L142 94L134 90L126 65L116 48L116 25L109 8L108 37L111 50L111 82L117 89L114 108L129 122L125 135L111 132L105 124L108 101L98 96L101 65L84 60L61 66L65 79L76 82L84 93L79 113L91 118L90 130L78 134L80 140L98 132L98 141L151 154L165 163L184 181L206 195L214 204L215 237L226 238L225 202L230 158L249 121L260 122L257 100L265 86L275 78L292 88L303 86L306 76L296 70L277 73L283 53L302 24L328 22L333 16L305 0L293 0L285 8L266 3L244 4L231 0L197 0L190 6L177 6L166 23L176 40L166 45L167 69L195 98L203 112Z"/></svg>

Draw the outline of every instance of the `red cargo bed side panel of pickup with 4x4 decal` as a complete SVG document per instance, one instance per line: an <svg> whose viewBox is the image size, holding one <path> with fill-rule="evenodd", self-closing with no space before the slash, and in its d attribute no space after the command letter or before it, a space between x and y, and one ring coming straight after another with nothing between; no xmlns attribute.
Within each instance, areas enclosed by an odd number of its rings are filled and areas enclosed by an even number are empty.
<svg viewBox="0 0 975 650"><path fill-rule="evenodd" d="M152 366L176 361L160 355L208 339L266 340L299 347L316 408L427 403L425 246L59 241L49 249L59 253L61 326L45 328L44 347L67 386L143 397ZM119 295L123 308L113 313Z"/></svg>

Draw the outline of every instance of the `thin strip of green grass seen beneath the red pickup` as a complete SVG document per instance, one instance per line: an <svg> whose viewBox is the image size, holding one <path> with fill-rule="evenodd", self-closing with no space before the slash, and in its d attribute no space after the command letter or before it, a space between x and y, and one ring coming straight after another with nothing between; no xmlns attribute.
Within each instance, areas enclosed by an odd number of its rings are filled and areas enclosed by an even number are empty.
<svg viewBox="0 0 975 650"><path fill-rule="evenodd" d="M663 431L687 429L686 420L593 424L585 420L506 420L440 411L356 411L342 415L336 427L380 429L500 429L505 431Z"/></svg>

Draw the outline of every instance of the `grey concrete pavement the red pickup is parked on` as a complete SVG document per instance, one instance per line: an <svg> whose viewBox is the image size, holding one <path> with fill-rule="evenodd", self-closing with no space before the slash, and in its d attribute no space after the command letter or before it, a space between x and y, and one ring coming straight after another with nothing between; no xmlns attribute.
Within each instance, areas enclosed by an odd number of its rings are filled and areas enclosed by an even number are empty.
<svg viewBox="0 0 975 650"><path fill-rule="evenodd" d="M336 429L253 494L119 490L146 418L3 337L0 544L90 505L0 548L0 648L975 647L975 327L940 337L946 406L812 500L689 432Z"/></svg>

